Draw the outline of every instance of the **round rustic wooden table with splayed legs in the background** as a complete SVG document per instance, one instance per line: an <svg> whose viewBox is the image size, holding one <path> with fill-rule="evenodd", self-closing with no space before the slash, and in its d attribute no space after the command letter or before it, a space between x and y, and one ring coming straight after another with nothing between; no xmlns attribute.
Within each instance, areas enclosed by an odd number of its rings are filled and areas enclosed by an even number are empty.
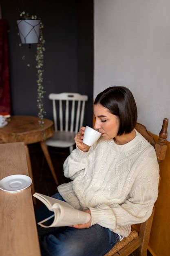
<svg viewBox="0 0 170 256"><path fill-rule="evenodd" d="M44 119L44 132L46 139L53 136L54 128L53 121L49 119ZM42 141L42 132L39 124L39 118L33 116L12 116L8 121L8 124L0 128L0 141L3 143L10 142L20 142L23 141L25 144L26 159L28 164L29 176L33 180L33 173L31 168L31 161L29 155L29 149L27 144L32 144L35 142L40 142L42 151L49 165L53 178L58 185L57 176L53 164L51 162L51 157L49 155L48 148L44 141ZM34 183L31 185L32 193L35 193ZM35 202L35 198L34 198Z"/></svg>

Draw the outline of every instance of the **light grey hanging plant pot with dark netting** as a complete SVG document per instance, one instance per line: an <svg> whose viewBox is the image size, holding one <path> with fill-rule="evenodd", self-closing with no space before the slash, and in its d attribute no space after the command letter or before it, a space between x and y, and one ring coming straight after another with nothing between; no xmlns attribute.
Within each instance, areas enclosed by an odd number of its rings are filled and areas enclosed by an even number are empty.
<svg viewBox="0 0 170 256"><path fill-rule="evenodd" d="M21 43L38 43L40 36L40 20L21 19L17 20Z"/></svg>

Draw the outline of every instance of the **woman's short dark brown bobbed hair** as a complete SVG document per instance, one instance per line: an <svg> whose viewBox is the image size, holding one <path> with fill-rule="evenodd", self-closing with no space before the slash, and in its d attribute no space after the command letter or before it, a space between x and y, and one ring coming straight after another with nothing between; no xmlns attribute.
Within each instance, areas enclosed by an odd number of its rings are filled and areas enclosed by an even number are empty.
<svg viewBox="0 0 170 256"><path fill-rule="evenodd" d="M137 122L137 106L132 92L124 86L112 86L100 92L94 104L101 104L119 117L117 135L130 133Z"/></svg>

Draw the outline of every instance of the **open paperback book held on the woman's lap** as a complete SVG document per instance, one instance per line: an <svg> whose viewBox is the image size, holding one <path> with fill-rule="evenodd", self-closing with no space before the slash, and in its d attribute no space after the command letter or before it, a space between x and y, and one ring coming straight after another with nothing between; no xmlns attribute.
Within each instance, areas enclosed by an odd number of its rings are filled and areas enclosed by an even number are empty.
<svg viewBox="0 0 170 256"><path fill-rule="evenodd" d="M49 218L38 222L41 227L72 226L87 223L91 219L89 213L74 209L67 202L40 193L35 193L33 196L42 201L49 211L53 212Z"/></svg>

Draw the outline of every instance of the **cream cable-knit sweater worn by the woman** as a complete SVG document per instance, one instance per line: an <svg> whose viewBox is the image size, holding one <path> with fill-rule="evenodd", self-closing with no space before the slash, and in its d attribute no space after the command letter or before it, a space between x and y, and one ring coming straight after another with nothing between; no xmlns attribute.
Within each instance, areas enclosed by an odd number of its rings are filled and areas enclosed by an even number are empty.
<svg viewBox="0 0 170 256"><path fill-rule="evenodd" d="M136 130L135 130L136 131ZM155 149L136 131L124 145L100 138L87 153L76 148L64 162L71 182L58 186L75 209L91 210L92 224L128 236L146 221L157 200L159 165Z"/></svg>

